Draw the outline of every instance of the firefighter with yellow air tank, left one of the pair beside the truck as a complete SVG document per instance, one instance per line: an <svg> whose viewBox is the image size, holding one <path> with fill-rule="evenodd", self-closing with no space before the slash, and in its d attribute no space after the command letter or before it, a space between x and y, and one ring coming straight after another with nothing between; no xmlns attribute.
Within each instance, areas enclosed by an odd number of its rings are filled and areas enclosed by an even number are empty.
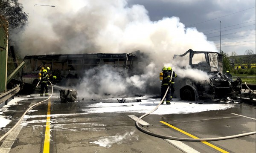
<svg viewBox="0 0 256 153"><path fill-rule="evenodd" d="M170 104L170 90L167 91L166 90L168 88L168 86L171 84L171 77L170 77L170 72L167 71L166 67L163 67L163 81L161 84L161 100L166 98L166 104L169 105ZM166 97L164 97L164 94L166 93ZM162 104L164 103L164 101L162 102Z"/></svg>

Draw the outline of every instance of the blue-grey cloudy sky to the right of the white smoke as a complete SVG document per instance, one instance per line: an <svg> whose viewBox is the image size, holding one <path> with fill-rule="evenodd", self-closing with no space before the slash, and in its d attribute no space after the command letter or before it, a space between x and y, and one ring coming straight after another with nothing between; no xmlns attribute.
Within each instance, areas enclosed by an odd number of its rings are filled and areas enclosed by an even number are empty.
<svg viewBox="0 0 256 153"><path fill-rule="evenodd" d="M255 0L129 0L128 3L145 6L153 21L179 17L186 27L203 32L218 51L220 43L221 51L229 55L233 51L237 55L244 55L247 49L256 51Z"/></svg>

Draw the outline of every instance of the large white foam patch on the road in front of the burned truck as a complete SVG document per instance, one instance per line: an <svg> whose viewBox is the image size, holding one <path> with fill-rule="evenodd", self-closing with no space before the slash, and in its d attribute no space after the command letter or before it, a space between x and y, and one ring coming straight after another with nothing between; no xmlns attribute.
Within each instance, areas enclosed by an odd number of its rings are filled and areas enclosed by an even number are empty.
<svg viewBox="0 0 256 153"><path fill-rule="evenodd" d="M153 110L160 103L160 98L158 99L147 99L147 97L141 97L141 102L135 102L136 98L125 98L126 101L134 100L134 102L124 102L119 103L116 99L116 102L112 103L96 103L87 105L87 109L83 109L84 113L147 113ZM137 98L139 99L139 98ZM106 99L109 101L109 99ZM197 102L199 103L199 102ZM161 104L159 108L151 114L178 114L178 113L197 113L204 112L209 110L226 110L232 108L235 105L229 104L226 102L202 102L203 104L195 104L191 101L182 101L174 98L174 101L170 105Z"/></svg>

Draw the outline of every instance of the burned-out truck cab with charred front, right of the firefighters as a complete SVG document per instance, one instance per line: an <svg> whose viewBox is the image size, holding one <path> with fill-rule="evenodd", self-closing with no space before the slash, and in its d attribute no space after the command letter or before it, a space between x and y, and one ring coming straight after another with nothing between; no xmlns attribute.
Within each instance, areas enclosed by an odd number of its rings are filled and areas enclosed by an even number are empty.
<svg viewBox="0 0 256 153"><path fill-rule="evenodd" d="M175 88L182 100L197 101L210 98L219 101L241 93L241 78L233 80L222 73L222 54L218 52L197 52L189 49L182 55L174 55L173 61L179 61L181 69L198 69L209 76L209 79L204 81L189 77L177 78Z"/></svg>

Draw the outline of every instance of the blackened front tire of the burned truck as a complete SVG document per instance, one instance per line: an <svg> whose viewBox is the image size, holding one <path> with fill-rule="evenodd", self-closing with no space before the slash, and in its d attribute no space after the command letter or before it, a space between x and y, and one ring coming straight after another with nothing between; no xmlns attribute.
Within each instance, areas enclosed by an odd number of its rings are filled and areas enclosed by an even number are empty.
<svg viewBox="0 0 256 153"><path fill-rule="evenodd" d="M197 101L198 92L193 86L185 86L180 89L180 98L185 101Z"/></svg>

